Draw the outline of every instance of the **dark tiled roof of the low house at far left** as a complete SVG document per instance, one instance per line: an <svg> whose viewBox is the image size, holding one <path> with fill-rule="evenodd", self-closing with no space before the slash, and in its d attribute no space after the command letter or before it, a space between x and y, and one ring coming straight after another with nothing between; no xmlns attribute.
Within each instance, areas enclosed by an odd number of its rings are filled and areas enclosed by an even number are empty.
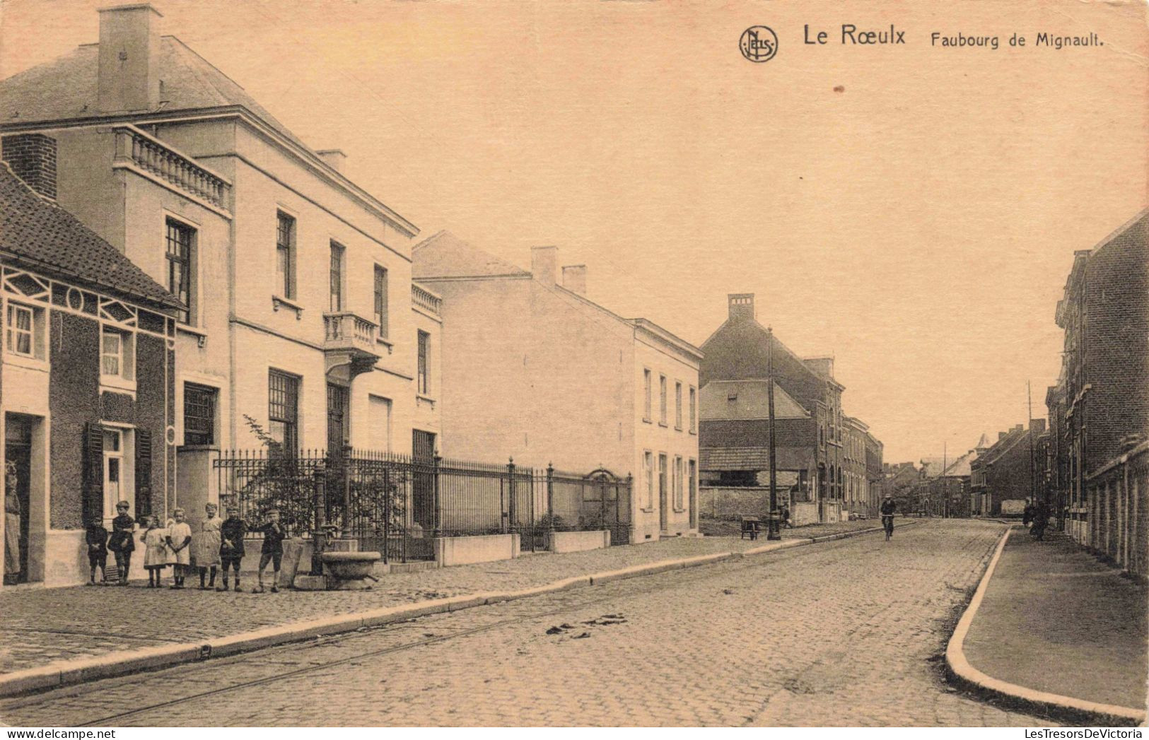
<svg viewBox="0 0 1149 740"><path fill-rule="evenodd" d="M0 167L0 255L61 278L165 308L183 308L144 270L63 208Z"/></svg>

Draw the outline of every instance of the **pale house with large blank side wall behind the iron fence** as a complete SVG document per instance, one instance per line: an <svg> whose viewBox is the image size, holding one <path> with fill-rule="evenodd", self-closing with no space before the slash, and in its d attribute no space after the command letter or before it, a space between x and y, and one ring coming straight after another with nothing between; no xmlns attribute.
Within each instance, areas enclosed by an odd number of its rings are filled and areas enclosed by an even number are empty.
<svg viewBox="0 0 1149 740"><path fill-rule="evenodd" d="M587 298L586 265L524 270L449 232L414 249L444 298L444 430L464 456L633 476L611 541L697 531L699 349ZM626 510L626 506L630 510Z"/></svg>

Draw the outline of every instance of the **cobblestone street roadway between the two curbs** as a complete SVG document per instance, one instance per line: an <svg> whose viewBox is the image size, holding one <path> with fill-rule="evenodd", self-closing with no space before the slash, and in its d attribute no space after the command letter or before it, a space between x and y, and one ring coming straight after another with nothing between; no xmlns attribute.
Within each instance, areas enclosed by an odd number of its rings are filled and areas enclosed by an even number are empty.
<svg viewBox="0 0 1149 740"><path fill-rule="evenodd" d="M890 542L869 534L5 700L0 718L1034 726L941 676L1001 531L924 522Z"/></svg>

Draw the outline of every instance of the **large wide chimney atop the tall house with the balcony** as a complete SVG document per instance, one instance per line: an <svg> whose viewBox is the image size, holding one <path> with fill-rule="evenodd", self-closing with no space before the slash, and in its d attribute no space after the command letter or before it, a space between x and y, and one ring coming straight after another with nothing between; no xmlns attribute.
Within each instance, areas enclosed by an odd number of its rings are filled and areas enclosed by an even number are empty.
<svg viewBox="0 0 1149 740"><path fill-rule="evenodd" d="M161 17L147 3L100 10L97 105L101 111L159 107Z"/></svg>

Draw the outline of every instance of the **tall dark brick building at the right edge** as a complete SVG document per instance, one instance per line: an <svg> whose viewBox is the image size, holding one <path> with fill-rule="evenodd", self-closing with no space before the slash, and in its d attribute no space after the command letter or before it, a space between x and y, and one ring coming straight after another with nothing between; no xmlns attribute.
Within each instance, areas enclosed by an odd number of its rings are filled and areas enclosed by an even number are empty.
<svg viewBox="0 0 1149 740"><path fill-rule="evenodd" d="M1074 253L1056 321L1065 344L1047 394L1050 496L1078 542L1128 568L1125 553L1147 544L1149 492L1110 479L1149 433L1149 211Z"/></svg>

